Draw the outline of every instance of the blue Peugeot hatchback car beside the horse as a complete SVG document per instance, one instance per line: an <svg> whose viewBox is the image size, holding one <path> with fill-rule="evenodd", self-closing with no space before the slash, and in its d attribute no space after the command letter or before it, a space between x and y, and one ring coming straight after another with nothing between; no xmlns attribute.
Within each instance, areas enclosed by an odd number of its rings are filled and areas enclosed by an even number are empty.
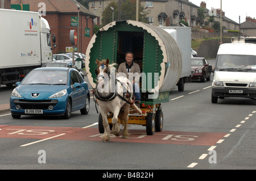
<svg viewBox="0 0 256 181"><path fill-rule="evenodd" d="M88 84L73 68L37 68L16 83L11 93L10 110L13 118L21 115L62 115L89 112Z"/></svg>

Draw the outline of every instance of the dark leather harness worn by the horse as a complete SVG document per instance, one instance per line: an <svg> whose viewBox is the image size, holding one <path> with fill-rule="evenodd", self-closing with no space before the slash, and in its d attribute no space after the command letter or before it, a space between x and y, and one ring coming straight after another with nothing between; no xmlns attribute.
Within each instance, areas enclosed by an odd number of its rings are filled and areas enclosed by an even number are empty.
<svg viewBox="0 0 256 181"><path fill-rule="evenodd" d="M109 77L109 80L110 80L110 71L109 71L109 67L108 67L108 65L106 65L106 64L104 64L104 63L102 63L101 65L97 66L97 68L95 69L95 74L97 75L97 74L98 74L98 73L97 73L97 69L100 68L100 66L102 66L102 68L104 68L104 65L106 66L106 68L108 68L108 69L106 70L106 74L108 74L108 77ZM104 78L104 75L100 75L100 77L103 77L103 78ZM100 77L97 77L97 79L100 78ZM121 110L122 110L122 111L124 110L124 108L126 107L127 104L130 104L130 105L133 104L133 103L130 103L127 99L125 99L125 96L126 96L126 98L130 98L130 95L131 95L130 92L125 88L125 86L123 85L123 83L122 83L121 81L119 81L118 79L115 79L115 85L117 85L117 82L119 82L119 83L122 85L123 90L126 90L126 91L123 91L123 96L121 96L120 94L117 94L116 91L110 92L110 94L107 95L107 96L103 96L103 95L101 95L101 93L100 93L100 92L98 91L98 89L97 89L98 82L96 83L96 87L93 88L92 92L93 92L93 100L94 100L94 102L95 102L95 107L96 107L97 113L98 113L98 110L97 110L96 104L98 104L98 103L97 103L97 100L94 99L94 96L96 97L96 99L102 100L102 101L105 101L105 102L110 101L110 100L113 100L116 96L118 96L119 98L121 98L123 101L126 102L126 103L123 104L123 106L121 107Z"/></svg>

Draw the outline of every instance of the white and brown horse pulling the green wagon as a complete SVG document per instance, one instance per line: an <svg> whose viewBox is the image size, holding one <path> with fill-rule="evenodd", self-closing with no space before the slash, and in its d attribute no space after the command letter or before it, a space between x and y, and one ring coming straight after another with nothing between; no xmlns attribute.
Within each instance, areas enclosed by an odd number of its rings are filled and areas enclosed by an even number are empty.
<svg viewBox="0 0 256 181"><path fill-rule="evenodd" d="M128 100L129 98L124 96L123 93L125 90L131 92L130 90L132 89L129 87L131 83L126 77L117 77L115 79L115 65L117 64L109 64L109 59L102 61L97 60L96 63L98 65L95 70L95 73L97 74L97 86L94 95L97 95L96 98L104 125L102 141L110 141L110 127L107 118L109 112L113 113L112 133L115 136L119 136L121 133L118 122L119 119L123 125L122 138L128 138L129 132L127 131L127 121L129 119L130 104L124 100ZM113 70L114 73L111 72L110 74L110 71ZM123 89L124 86L125 89Z"/></svg>

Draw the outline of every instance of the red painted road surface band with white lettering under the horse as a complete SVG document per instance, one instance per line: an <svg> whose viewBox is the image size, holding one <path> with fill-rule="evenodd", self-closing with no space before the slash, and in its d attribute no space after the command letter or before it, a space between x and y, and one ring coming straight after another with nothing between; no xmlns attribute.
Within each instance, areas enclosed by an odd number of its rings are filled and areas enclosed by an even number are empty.
<svg viewBox="0 0 256 181"><path fill-rule="evenodd" d="M24 127L0 125L0 138L34 138L45 139L59 134L55 140L80 140L80 141L101 141L102 134L97 128L73 128L73 127ZM215 145L226 133L207 132L177 132L163 131L155 132L148 136L145 130L130 130L130 137L127 139L112 134L112 142L142 142L150 144L178 144L178 145Z"/></svg>

